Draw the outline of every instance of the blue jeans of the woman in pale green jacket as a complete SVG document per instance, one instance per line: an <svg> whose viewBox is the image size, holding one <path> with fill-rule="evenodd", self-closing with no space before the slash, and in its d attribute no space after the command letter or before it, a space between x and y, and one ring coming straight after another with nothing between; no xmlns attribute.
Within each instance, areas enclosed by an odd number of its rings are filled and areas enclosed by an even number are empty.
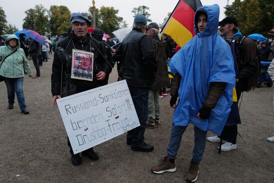
<svg viewBox="0 0 274 183"><path fill-rule="evenodd" d="M24 77L4 78L4 82L7 88L8 104L14 104L15 92L20 110L24 110L26 108L23 92L23 81Z"/></svg>

